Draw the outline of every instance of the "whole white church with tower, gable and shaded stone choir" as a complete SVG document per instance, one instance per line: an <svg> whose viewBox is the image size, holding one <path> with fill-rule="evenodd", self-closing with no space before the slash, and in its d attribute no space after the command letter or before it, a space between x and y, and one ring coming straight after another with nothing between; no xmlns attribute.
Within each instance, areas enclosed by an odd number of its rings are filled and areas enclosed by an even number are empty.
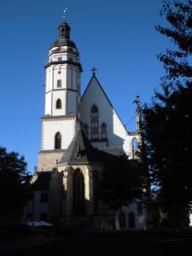
<svg viewBox="0 0 192 256"><path fill-rule="evenodd" d="M112 228L114 219L117 230L145 229L146 211L141 201L115 213L102 202L96 206L94 177L102 170L101 155L138 158L134 142L141 143L139 115L137 131L127 131L96 78L95 68L81 96L82 67L70 30L63 21L45 65L41 150L27 218L65 225L94 223L102 229Z"/></svg>

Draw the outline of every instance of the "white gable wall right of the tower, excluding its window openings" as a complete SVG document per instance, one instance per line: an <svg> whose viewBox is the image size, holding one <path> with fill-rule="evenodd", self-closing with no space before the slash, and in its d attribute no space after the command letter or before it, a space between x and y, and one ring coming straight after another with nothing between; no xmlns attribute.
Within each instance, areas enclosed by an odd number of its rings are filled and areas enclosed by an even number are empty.
<svg viewBox="0 0 192 256"><path fill-rule="evenodd" d="M92 143L93 146L96 148L106 146L124 148L125 153L132 158L132 140L136 138L139 143L139 137L137 134L132 136L126 131L125 125L119 119L119 115L113 108L112 103L108 100L108 96L105 94L95 75L90 79L90 84L88 84L81 99L81 121L89 126L89 138L90 109L94 104L96 104L99 111L99 139L97 142ZM108 144L102 142L102 123L107 125Z"/></svg>

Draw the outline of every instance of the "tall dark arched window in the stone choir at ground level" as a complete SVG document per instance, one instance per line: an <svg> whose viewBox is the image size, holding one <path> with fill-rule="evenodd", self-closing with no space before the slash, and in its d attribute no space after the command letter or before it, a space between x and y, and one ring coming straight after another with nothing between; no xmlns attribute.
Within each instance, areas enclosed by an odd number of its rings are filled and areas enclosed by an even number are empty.
<svg viewBox="0 0 192 256"><path fill-rule="evenodd" d="M73 173L73 213L84 213L84 175L79 169Z"/></svg>

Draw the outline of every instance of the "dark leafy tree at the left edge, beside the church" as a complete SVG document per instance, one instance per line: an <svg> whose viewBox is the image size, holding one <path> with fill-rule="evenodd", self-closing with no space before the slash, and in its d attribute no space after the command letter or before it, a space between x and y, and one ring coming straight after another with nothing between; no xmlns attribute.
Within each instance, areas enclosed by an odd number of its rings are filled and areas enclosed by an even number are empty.
<svg viewBox="0 0 192 256"><path fill-rule="evenodd" d="M26 172L26 161L18 153L0 148L1 218L15 218L15 212L26 203L31 176Z"/></svg>

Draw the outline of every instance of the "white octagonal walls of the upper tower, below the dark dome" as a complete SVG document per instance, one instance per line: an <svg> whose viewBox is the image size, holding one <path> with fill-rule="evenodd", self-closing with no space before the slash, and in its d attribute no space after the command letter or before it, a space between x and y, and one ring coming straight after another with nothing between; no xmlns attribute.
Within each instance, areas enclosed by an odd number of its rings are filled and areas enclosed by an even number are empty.
<svg viewBox="0 0 192 256"><path fill-rule="evenodd" d="M46 67L45 88L45 115L67 115L69 113L79 116L80 104L80 72L79 67L68 62L79 63L76 49L61 47L60 53L55 53L58 48L49 51L49 62ZM71 52L73 49L73 55ZM72 57L73 56L73 57ZM52 64L53 63L53 64ZM56 101L61 100L61 108L56 108Z"/></svg>

